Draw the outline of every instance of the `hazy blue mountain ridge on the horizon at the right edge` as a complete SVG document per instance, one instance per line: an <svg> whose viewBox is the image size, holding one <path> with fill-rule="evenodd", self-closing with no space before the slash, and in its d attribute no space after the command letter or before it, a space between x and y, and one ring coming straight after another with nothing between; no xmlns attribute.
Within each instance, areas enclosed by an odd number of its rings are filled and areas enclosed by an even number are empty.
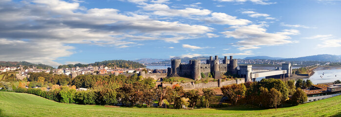
<svg viewBox="0 0 341 117"><path fill-rule="evenodd" d="M285 61L330 61L330 62L340 62L340 55L314 55L299 58L283 59Z"/></svg>

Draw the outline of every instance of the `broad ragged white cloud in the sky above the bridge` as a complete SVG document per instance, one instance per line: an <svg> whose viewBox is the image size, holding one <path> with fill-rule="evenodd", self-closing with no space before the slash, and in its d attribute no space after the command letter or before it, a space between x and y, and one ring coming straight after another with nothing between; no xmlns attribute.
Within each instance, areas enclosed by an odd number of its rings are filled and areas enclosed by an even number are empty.
<svg viewBox="0 0 341 117"><path fill-rule="evenodd" d="M252 24L247 26L231 26L233 31L221 32L226 38L238 39L236 42L239 50L256 49L257 46L273 46L293 43L288 35L298 35L298 30L282 30L282 32L266 32L266 24Z"/></svg>

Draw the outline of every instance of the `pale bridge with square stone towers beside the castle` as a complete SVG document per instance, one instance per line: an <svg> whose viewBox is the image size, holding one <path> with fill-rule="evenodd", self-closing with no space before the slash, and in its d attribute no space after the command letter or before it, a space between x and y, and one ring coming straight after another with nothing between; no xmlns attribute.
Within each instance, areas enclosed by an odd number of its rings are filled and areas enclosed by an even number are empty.
<svg viewBox="0 0 341 117"><path fill-rule="evenodd" d="M239 75L241 78L245 78L245 81L255 81L256 78L285 78L292 76L291 63L283 63L282 69L276 70L259 70L253 71L252 65L239 65Z"/></svg>

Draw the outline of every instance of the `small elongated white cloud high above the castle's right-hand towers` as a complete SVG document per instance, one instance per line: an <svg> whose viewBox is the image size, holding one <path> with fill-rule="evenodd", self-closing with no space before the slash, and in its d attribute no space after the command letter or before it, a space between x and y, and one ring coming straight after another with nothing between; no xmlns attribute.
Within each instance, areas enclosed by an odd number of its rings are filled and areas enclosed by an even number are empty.
<svg viewBox="0 0 341 117"><path fill-rule="evenodd" d="M237 19L237 17L230 16L225 13L215 13L215 12L211 14L211 17L207 17L202 20L207 21L209 23L228 24L228 25L247 25L252 22L250 20Z"/></svg>

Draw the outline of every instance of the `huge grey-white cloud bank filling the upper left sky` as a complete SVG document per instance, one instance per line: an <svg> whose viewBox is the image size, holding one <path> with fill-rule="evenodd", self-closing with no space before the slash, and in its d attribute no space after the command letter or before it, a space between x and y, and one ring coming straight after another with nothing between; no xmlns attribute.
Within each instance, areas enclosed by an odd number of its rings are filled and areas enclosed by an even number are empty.
<svg viewBox="0 0 341 117"><path fill-rule="evenodd" d="M139 5L147 0L128 0ZM0 58L58 65L54 60L75 52L68 44L92 44L125 48L136 41L179 42L207 36L213 28L178 21L154 20L148 15L117 9L86 9L81 1L1 1ZM207 10L183 9L187 15ZM200 13L199 13L200 12ZM209 14L209 13L208 13ZM186 16L185 13L183 15ZM8 44L10 43L10 44ZM12 43L12 44L11 44Z"/></svg>

